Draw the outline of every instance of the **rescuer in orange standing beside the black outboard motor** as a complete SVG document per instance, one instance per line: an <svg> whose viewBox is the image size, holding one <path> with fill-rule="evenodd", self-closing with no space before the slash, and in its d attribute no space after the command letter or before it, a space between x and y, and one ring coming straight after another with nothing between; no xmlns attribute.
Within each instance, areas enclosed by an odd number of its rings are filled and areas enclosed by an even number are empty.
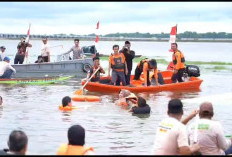
<svg viewBox="0 0 232 157"><path fill-rule="evenodd" d="M184 82L182 80L182 77L185 70L185 58L183 53L177 48L178 48L177 43L171 44L171 49L173 50L172 62L174 64L172 83L176 83L177 80L178 82Z"/></svg>

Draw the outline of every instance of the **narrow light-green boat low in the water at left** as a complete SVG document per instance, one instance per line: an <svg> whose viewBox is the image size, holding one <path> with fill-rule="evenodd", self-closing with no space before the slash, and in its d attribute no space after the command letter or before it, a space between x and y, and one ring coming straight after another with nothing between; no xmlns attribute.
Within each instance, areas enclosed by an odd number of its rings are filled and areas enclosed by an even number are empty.
<svg viewBox="0 0 232 157"><path fill-rule="evenodd" d="M41 85L41 84L53 84L63 80L67 80L72 76L65 77L44 77L44 78L12 78L12 79L0 79L0 84L30 84L30 85Z"/></svg>

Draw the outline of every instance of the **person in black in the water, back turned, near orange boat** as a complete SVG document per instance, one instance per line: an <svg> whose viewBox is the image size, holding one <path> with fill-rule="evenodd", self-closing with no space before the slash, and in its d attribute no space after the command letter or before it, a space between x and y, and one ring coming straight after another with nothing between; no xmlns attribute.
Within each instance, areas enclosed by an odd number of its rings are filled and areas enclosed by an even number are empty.
<svg viewBox="0 0 232 157"><path fill-rule="evenodd" d="M138 96L137 103L131 107L129 112L134 114L150 114L151 108L144 98Z"/></svg>

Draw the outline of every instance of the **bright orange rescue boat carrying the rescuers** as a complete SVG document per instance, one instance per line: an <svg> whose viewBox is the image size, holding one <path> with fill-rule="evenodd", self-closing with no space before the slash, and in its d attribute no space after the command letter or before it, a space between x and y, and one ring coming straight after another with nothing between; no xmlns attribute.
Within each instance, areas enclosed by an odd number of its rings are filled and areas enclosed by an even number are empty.
<svg viewBox="0 0 232 157"><path fill-rule="evenodd" d="M188 82L181 82L181 83L172 83L171 77L173 72L172 71L163 71L161 72L164 78L164 85L160 86L149 86L144 87L142 85L143 81L140 80L133 80L134 75L131 76L131 85L134 87L129 86L114 86L114 85L107 85L107 84L100 84L98 82L89 82L85 89L90 92L107 92L107 93L118 93L120 89L127 89L131 92L139 93L139 92L160 92L160 91L176 91L176 90L188 90L188 89L199 89L200 85L203 80L200 80L197 77L190 77ZM101 79L110 79L109 77L102 77ZM85 80L82 80L82 85L84 85Z"/></svg>

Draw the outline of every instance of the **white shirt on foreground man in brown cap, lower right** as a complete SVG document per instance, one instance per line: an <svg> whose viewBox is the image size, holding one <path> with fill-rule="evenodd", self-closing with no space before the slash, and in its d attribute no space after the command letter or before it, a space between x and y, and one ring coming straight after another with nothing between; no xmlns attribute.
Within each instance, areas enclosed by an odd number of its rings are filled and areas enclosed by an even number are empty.
<svg viewBox="0 0 232 157"><path fill-rule="evenodd" d="M195 124L188 128L189 140L193 143ZM210 119L199 119L197 140L202 155L225 155L225 150L231 145L231 140L226 139L219 122Z"/></svg>

